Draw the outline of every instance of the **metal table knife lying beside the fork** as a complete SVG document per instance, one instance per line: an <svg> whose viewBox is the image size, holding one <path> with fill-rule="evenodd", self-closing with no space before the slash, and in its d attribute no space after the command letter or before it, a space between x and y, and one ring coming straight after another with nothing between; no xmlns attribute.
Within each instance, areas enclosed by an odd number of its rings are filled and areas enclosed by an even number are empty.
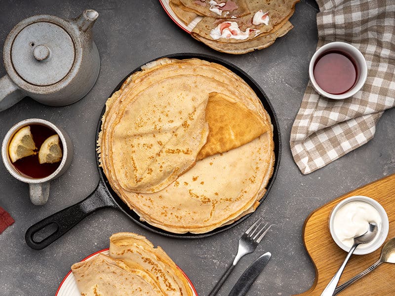
<svg viewBox="0 0 395 296"><path fill-rule="evenodd" d="M233 287L229 296L244 296L247 294L251 285L255 282L258 275L262 272L263 268L269 262L272 257L270 252L261 255L256 259L238 279L236 285Z"/></svg>

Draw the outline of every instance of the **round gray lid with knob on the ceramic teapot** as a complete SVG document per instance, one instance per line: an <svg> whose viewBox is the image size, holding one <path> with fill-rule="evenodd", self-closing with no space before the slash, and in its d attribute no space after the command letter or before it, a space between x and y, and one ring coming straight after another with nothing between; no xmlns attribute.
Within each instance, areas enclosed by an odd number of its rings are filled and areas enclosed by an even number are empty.
<svg viewBox="0 0 395 296"><path fill-rule="evenodd" d="M15 34L10 58L23 80L48 86L62 80L72 69L75 45L61 26L39 21Z"/></svg>

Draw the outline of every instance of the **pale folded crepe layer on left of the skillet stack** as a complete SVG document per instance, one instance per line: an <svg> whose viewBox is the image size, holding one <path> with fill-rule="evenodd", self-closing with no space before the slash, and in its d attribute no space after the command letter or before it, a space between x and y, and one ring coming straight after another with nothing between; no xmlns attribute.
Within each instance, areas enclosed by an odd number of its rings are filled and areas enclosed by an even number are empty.
<svg viewBox="0 0 395 296"><path fill-rule="evenodd" d="M131 96L129 96L130 98ZM157 192L191 168L205 144L207 96L194 102L178 78L150 85L133 96L113 130L113 162L128 191Z"/></svg>

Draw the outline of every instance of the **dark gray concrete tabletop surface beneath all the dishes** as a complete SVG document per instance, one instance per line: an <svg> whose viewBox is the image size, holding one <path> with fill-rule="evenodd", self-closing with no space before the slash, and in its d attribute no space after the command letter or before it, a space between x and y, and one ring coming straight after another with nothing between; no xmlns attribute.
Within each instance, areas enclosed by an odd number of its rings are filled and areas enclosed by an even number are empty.
<svg viewBox="0 0 395 296"><path fill-rule="evenodd" d="M14 123L38 117L64 128L75 149L70 169L51 184L45 206L34 206L29 200L28 186L13 179L0 164L0 205L16 221L0 234L0 294L54 295L74 262L106 248L112 233L133 231L162 246L188 274L198 294L204 296L236 253L241 233L259 216L265 216L275 226L255 253L240 261L219 295L228 295L242 271L266 251L272 252L273 257L248 295L286 296L309 289L315 271L302 243L306 217L337 196L395 172L395 110L384 113L372 141L315 173L303 176L293 162L289 133L307 85L309 59L316 48L316 3L301 0L291 18L295 28L274 45L233 56L215 52L188 36L172 23L157 0L0 0L0 46L12 27L26 17L47 13L73 18L85 8L96 9L100 14L94 26L94 40L100 52L101 69L92 91L71 106L46 107L25 98L0 113L1 140ZM280 121L284 145L276 182L263 205L252 218L231 230L198 240L162 237L137 226L116 210L102 210L46 249L30 249L24 239L30 225L80 201L97 185L95 130L108 95L137 66L177 52L225 58L250 74L268 94ZM0 66L0 75L4 74Z"/></svg>

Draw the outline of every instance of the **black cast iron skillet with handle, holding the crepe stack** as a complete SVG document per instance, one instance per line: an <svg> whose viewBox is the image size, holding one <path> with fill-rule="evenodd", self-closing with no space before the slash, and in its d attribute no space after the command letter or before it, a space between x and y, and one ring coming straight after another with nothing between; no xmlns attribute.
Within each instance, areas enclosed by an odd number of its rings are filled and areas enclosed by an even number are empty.
<svg viewBox="0 0 395 296"><path fill-rule="evenodd" d="M190 58L199 58L202 60L206 60L209 62L214 62L218 63L222 66L225 66L232 72L236 73L238 76L240 76L242 79L244 79L245 82L255 91L259 99L262 101L263 107L268 111L271 119L272 119L272 124L274 128L274 143L275 143L275 155L276 155L276 161L275 161L275 166L274 166L274 172L272 178L269 180L268 186L267 186L267 191L265 195L262 197L261 201L263 201L266 196L268 195L268 192L270 188L272 187L275 179L276 179L276 174L277 174L277 169L279 166L280 162L280 156L281 156L281 135L280 135L280 130L279 130L279 125L278 125L278 120L276 113L272 107L272 104L270 103L268 97L264 93L264 91L261 89L261 87L244 71L242 71L240 68L236 67L235 65L232 65L222 59L209 56L209 55L204 55L204 54L197 54L197 53L179 53L179 54L171 54L164 56L167 58L175 58L175 59L190 59ZM159 58L156 58L152 61L155 61ZM138 67L134 71L132 71L130 74L128 74L115 88L113 91L116 92L120 86L122 85L123 81L126 80L127 77L129 77L131 74L140 71L141 67ZM103 111L100 115L100 120L97 124L97 132L96 132L96 143L97 143L97 138L98 134L101 129L101 118L106 111L106 106L104 106ZM184 233L184 234L177 234L177 233L171 233L165 230L162 230L160 228L154 227L147 222L142 222L140 221L140 217L132 210L129 209L129 207L119 198L117 193L114 192L114 190L111 188L108 179L103 173L103 169L99 167L99 159L98 155L96 154L96 162L99 170L99 184L97 185L96 189L84 200L80 201L79 203L72 205L64 210L61 210L43 220L40 222L37 222L33 226L31 226L27 231L26 231L26 243L28 244L29 247L35 250L41 250L45 247L47 247L49 244L53 243L55 240L57 240L59 237L61 237L63 234L65 234L67 231L69 231L73 226L75 226L78 222L80 222L82 219L84 219L86 216L92 214L93 212L103 209L103 208L116 208L123 212L123 214L127 215L131 220L139 224L140 226L151 230L155 233L162 234L167 237L174 237L174 238L202 238L202 237L207 237L222 231L225 231L236 224L240 223L244 219L246 219L249 215L246 215L236 222L233 222L232 224L219 227L217 229L214 229L210 232L207 233L202 233L202 234L193 234L193 233ZM250 214L251 215L251 214ZM45 237L44 239L37 241L34 236L35 234L42 230L46 226L55 226L56 230L50 234L49 236Z"/></svg>

